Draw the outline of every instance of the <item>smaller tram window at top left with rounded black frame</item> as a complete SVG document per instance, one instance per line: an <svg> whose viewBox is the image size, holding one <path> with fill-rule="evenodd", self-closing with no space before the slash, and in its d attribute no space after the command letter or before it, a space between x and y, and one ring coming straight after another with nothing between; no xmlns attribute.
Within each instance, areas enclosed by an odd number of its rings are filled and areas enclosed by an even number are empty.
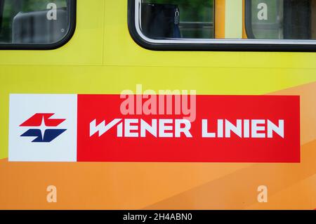
<svg viewBox="0 0 316 224"><path fill-rule="evenodd" d="M74 0L0 0L0 48L65 41L74 30L74 4Z"/></svg>

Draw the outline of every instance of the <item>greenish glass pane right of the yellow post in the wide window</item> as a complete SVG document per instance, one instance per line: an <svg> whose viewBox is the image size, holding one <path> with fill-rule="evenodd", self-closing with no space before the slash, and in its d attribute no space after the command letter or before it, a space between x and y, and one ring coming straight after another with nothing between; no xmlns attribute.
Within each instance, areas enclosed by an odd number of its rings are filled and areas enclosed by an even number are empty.
<svg viewBox="0 0 316 224"><path fill-rule="evenodd" d="M316 39L316 0L251 0L246 29L254 39Z"/></svg>

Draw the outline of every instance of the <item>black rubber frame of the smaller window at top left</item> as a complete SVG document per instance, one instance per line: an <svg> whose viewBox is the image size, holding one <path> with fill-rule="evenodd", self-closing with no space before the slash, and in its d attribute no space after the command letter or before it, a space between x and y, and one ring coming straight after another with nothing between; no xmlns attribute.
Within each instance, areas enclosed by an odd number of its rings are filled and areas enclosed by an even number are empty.
<svg viewBox="0 0 316 224"><path fill-rule="evenodd" d="M59 41L51 44L0 44L0 50L53 50L67 44L76 30L77 24L77 0L69 0L70 27L67 34Z"/></svg>

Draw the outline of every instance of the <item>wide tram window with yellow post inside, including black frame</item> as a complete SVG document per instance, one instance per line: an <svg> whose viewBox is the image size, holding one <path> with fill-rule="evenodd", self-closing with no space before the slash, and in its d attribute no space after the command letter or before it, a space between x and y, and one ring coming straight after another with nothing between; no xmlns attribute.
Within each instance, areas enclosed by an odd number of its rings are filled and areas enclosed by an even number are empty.
<svg viewBox="0 0 316 224"><path fill-rule="evenodd" d="M129 0L128 19L154 51L316 51L316 0Z"/></svg>

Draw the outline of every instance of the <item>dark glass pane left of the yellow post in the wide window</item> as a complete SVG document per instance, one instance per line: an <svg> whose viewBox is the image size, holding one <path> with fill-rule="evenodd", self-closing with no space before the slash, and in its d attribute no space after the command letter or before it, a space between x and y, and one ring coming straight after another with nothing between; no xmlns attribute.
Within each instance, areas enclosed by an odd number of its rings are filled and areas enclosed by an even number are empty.
<svg viewBox="0 0 316 224"><path fill-rule="evenodd" d="M213 38L213 1L143 0L141 29L154 39Z"/></svg>

